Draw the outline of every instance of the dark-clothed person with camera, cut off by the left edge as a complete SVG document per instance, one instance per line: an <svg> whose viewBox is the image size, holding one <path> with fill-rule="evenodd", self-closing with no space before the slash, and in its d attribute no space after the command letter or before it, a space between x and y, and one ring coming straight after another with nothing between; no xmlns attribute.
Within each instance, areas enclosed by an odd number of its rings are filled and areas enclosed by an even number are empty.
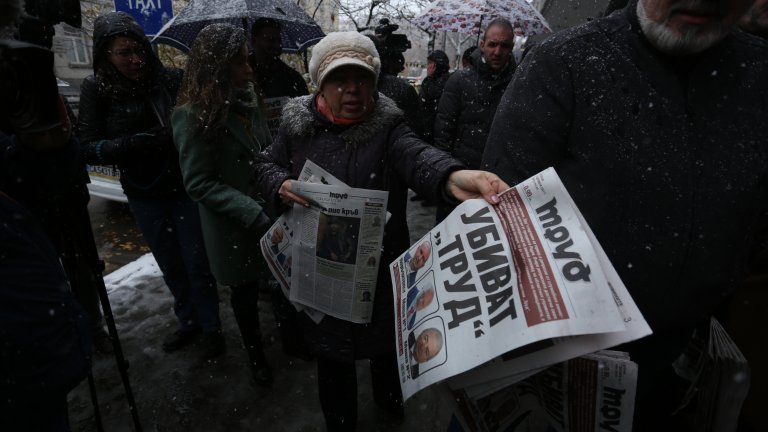
<svg viewBox="0 0 768 432"><path fill-rule="evenodd" d="M0 5L9 9L14 16L2 17L0 31L15 23L21 5ZM67 393L90 368L92 323L70 289L60 255L61 219L76 204L82 176L71 130L56 89L53 53L0 40L3 431L69 430Z"/></svg>

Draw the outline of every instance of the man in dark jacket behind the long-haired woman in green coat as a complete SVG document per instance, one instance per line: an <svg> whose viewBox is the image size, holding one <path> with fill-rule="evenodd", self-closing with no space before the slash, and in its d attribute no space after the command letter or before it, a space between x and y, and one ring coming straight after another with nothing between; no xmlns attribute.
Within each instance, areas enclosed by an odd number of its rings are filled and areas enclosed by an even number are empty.
<svg viewBox="0 0 768 432"><path fill-rule="evenodd" d="M253 23L251 42L253 53L249 58L253 78L267 107L267 123L272 136L277 136L280 110L288 99L309 94L301 75L280 59L283 40L280 23L271 18L257 19Z"/></svg>

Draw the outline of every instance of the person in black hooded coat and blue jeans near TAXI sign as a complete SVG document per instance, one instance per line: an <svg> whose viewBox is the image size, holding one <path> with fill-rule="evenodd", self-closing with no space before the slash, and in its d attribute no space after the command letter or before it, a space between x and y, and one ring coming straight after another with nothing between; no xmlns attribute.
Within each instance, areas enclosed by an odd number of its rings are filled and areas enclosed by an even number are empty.
<svg viewBox="0 0 768 432"><path fill-rule="evenodd" d="M93 42L94 74L80 95L83 159L117 165L131 211L173 294L179 327L163 350L179 350L202 333L202 356L215 357L224 350L217 285L170 127L182 72L160 63L124 12L96 18Z"/></svg>

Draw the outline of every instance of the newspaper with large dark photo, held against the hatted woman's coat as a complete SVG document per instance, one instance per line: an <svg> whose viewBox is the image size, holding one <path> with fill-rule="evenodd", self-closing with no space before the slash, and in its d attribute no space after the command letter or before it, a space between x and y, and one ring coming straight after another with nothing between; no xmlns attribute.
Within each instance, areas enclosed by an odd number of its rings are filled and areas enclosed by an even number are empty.
<svg viewBox="0 0 768 432"><path fill-rule="evenodd" d="M388 192L297 181L291 190L311 204L293 209L291 301L370 322Z"/></svg>

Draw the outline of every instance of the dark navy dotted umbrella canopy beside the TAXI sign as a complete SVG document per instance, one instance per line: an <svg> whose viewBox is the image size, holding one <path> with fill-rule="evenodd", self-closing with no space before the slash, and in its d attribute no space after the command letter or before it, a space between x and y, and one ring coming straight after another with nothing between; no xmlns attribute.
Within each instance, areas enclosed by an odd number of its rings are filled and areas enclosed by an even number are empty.
<svg viewBox="0 0 768 432"><path fill-rule="evenodd" d="M250 40L251 26L259 18L280 22L284 52L303 51L325 36L304 9L290 0L192 0L160 29L152 42L189 52L200 30L213 23L245 26Z"/></svg>

